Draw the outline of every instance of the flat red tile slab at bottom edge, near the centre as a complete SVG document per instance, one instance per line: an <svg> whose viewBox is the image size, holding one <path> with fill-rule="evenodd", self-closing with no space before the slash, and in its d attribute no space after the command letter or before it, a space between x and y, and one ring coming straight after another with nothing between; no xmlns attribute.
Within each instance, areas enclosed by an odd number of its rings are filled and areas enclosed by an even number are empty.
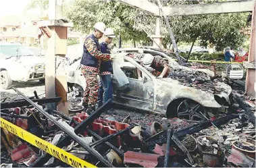
<svg viewBox="0 0 256 168"><path fill-rule="evenodd" d="M135 163L144 167L156 167L159 156L151 153L128 151L124 153L124 163Z"/></svg>

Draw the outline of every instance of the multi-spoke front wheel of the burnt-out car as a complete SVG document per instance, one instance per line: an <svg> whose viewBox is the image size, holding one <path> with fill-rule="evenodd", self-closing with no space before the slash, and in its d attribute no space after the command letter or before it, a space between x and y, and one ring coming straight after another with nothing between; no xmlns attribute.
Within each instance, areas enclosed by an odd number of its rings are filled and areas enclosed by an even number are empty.
<svg viewBox="0 0 256 168"><path fill-rule="evenodd" d="M190 99L185 99L178 105L177 115L180 119L195 121L207 120L206 108Z"/></svg>

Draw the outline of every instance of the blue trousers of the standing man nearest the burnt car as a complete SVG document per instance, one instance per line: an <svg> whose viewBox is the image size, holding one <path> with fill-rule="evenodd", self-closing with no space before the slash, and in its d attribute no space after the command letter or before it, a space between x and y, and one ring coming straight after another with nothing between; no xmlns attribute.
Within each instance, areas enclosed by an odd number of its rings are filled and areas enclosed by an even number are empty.
<svg viewBox="0 0 256 168"><path fill-rule="evenodd" d="M103 103L106 103L109 99L113 99L111 75L101 75L100 77L98 107L101 107Z"/></svg>

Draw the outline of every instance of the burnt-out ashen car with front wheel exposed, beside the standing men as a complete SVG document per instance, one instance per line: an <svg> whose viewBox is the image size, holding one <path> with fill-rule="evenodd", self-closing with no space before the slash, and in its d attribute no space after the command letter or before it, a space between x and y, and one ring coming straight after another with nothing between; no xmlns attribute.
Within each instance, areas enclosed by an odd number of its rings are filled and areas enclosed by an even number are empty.
<svg viewBox="0 0 256 168"><path fill-rule="evenodd" d="M128 53L124 53L127 54ZM213 94L207 90L201 90L180 84L172 78L157 79L149 70L141 66L131 57L124 56L122 70L128 78L126 87L119 87L115 76L111 76L113 82L113 103L163 114L167 117L204 120L207 112L212 108L221 108L223 103L230 105L230 86L217 82L219 92ZM143 74L139 80L137 69ZM86 81L80 71L80 58L76 59L68 69L68 86L80 86L82 91L86 87Z"/></svg>

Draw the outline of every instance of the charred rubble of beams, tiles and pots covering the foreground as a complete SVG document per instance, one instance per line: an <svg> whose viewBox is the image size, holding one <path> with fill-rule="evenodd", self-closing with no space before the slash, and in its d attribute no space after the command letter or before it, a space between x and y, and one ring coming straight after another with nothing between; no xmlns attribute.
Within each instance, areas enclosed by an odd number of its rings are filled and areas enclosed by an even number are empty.
<svg viewBox="0 0 256 168"><path fill-rule="evenodd" d="M240 97L246 108L255 108L255 99L241 92ZM75 101L70 115L63 115L46 108L47 101L39 101L47 112L32 104L19 105L1 109L1 119L62 150L49 155L43 144L32 145L26 137L1 128L1 165L80 167L61 157L65 151L97 167L255 167L255 125L245 113L248 108L236 99L227 113L201 122L107 109L107 105L88 115Z"/></svg>

